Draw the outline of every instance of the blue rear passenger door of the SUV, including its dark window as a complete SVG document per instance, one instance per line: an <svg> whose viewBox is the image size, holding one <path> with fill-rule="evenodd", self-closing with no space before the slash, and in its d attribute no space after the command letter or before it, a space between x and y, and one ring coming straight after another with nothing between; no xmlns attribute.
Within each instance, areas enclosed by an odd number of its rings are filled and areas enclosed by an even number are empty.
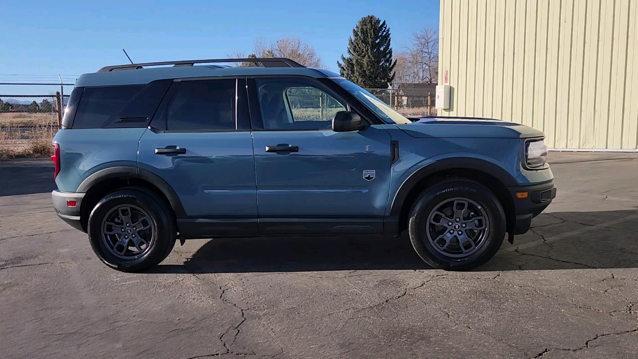
<svg viewBox="0 0 638 359"><path fill-rule="evenodd" d="M175 80L140 139L138 166L175 190L186 237L257 233L245 79Z"/></svg>

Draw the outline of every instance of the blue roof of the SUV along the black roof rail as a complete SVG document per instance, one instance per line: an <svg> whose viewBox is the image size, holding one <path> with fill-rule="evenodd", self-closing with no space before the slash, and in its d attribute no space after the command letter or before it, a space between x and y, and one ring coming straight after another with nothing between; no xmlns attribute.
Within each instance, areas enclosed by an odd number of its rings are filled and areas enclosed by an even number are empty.
<svg viewBox="0 0 638 359"><path fill-rule="evenodd" d="M258 59L252 59L257 60ZM228 59L233 62L233 59ZM137 66L140 64L133 64ZM124 66L124 65L122 65ZM107 66L114 68L117 66ZM303 75L315 78L335 77L336 73L319 68L307 67L262 67L262 66L221 66L221 65L195 65L195 66L171 66L156 68L132 68L131 70L110 71L101 69L101 72L85 73L75 82L77 87L85 86L115 86L148 84L161 79L183 79L193 77L218 77L218 76L249 76L249 75Z"/></svg>

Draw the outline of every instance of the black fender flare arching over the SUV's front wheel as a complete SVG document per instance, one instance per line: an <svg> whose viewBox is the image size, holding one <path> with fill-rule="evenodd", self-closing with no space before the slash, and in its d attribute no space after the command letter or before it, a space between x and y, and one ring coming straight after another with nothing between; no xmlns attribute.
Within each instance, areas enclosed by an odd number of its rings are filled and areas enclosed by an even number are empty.
<svg viewBox="0 0 638 359"><path fill-rule="evenodd" d="M394 199L392 200L390 217L399 217L401 214L401 208L403 207L404 202L408 199L410 190L412 190L417 183L431 174L450 169L471 169L485 172L501 181L505 187L518 185L514 176L509 174L505 169L503 169L503 167L493 164L492 162L482 160L480 158L468 157L443 158L441 160L436 160L431 164L424 165L403 181L401 187L399 187L399 190L397 190L394 195Z"/></svg>

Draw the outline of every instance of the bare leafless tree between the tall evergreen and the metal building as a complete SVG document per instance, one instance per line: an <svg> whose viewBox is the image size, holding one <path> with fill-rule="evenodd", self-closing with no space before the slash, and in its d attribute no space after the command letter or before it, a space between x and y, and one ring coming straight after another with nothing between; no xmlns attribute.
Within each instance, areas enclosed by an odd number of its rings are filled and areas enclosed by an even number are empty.
<svg viewBox="0 0 638 359"><path fill-rule="evenodd" d="M396 54L394 82L432 83L438 80L438 31L426 27L412 34L410 47Z"/></svg>

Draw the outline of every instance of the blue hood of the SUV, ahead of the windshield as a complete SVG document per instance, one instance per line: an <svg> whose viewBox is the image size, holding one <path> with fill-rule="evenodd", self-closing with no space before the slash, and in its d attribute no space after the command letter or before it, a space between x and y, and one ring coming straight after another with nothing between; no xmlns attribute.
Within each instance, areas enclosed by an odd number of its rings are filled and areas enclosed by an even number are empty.
<svg viewBox="0 0 638 359"><path fill-rule="evenodd" d="M420 118L406 125L397 125L406 134L417 137L447 139L526 139L545 137L542 131L520 123L479 118Z"/></svg>

